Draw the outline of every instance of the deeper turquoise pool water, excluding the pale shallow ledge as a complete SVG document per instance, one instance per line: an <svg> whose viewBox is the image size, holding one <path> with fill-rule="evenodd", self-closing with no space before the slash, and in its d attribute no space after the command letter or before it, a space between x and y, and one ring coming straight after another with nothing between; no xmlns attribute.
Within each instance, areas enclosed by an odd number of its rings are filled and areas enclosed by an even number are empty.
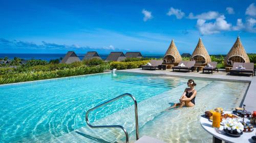
<svg viewBox="0 0 256 143"><path fill-rule="evenodd" d="M184 81L159 80L156 76L110 73L0 86L0 140L3 142L48 140L86 126L89 108L123 93L138 102L175 88ZM159 84L161 82L161 84ZM128 103L124 102L129 100ZM91 121L101 119L132 104L124 98ZM94 114L92 113L92 114Z"/></svg>

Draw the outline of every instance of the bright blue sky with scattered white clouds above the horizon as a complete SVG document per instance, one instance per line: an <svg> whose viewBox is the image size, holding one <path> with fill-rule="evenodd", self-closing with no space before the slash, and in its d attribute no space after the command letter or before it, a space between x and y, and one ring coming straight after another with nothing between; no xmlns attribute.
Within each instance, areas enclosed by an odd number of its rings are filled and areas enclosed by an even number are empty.
<svg viewBox="0 0 256 143"><path fill-rule="evenodd" d="M164 54L170 41L192 53L227 54L240 36L256 53L256 1L4 1L0 53L140 51Z"/></svg>

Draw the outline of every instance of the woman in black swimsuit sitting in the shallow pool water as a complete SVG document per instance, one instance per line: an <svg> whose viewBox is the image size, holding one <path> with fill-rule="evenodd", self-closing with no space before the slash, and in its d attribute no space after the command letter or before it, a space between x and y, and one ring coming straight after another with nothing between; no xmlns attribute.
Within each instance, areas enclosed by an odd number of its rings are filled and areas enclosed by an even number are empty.
<svg viewBox="0 0 256 143"><path fill-rule="evenodd" d="M197 91L195 90L196 85L197 84L195 83L195 81L193 79L189 79L187 81L188 88L185 89L184 93L180 97L180 103L175 103L173 106L171 106L165 110L176 108L177 106L180 106L179 108L181 108L184 105L186 105L187 107L195 106L195 99L196 99L196 95L197 95Z"/></svg>

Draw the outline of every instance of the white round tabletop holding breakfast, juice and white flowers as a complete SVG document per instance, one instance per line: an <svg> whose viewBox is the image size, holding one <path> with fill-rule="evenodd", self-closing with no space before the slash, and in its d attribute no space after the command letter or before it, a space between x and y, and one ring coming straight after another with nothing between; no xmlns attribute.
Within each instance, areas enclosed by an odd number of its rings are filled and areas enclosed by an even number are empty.
<svg viewBox="0 0 256 143"><path fill-rule="evenodd" d="M231 113L230 111L225 111L224 113ZM250 122L247 118L244 119L245 123ZM212 128L212 122L210 122L208 119L201 117L200 124L208 133L210 133L213 138L212 142L221 142L221 140L225 142L253 142L251 139L252 136L255 136L256 133L256 126L253 125L253 131L252 132L243 132L243 134L239 137L234 137L226 134L223 130L223 126L221 126L219 129Z"/></svg>

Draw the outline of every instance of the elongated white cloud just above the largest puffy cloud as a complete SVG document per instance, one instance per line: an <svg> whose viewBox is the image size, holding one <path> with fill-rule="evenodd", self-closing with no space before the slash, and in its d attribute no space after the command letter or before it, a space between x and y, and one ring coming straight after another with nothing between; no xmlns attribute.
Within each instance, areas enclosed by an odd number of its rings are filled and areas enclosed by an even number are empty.
<svg viewBox="0 0 256 143"><path fill-rule="evenodd" d="M216 19L220 16L219 12L216 11L209 11L204 12L202 14L194 16L193 13L189 13L188 19L204 19L204 20L210 20L210 19Z"/></svg>

